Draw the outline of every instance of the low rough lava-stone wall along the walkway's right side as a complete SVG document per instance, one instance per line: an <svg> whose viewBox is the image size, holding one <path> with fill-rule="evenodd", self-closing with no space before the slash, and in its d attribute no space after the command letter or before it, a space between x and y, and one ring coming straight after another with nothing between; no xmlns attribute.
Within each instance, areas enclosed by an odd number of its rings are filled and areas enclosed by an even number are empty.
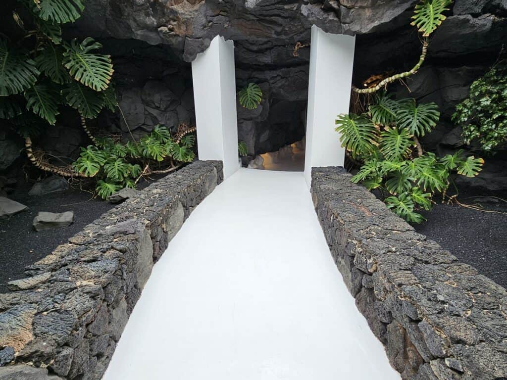
<svg viewBox="0 0 507 380"><path fill-rule="evenodd" d="M507 291L388 210L342 168L313 168L343 280L404 379L507 378Z"/></svg>

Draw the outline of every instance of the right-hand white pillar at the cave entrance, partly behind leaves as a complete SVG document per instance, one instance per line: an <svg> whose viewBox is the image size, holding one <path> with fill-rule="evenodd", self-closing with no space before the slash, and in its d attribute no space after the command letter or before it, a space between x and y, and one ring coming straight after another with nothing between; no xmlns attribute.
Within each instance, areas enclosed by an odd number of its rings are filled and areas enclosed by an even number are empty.
<svg viewBox="0 0 507 380"><path fill-rule="evenodd" d="M354 45L353 36L312 26L304 173L308 187L312 167L343 166L345 161L335 120L349 111Z"/></svg>

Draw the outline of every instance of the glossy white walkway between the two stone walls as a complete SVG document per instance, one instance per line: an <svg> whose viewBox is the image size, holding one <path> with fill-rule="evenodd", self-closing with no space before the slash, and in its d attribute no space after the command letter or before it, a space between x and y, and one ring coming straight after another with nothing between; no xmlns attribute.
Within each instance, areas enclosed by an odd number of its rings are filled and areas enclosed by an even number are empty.
<svg viewBox="0 0 507 380"><path fill-rule="evenodd" d="M242 169L155 265L104 380L399 380L300 172Z"/></svg>

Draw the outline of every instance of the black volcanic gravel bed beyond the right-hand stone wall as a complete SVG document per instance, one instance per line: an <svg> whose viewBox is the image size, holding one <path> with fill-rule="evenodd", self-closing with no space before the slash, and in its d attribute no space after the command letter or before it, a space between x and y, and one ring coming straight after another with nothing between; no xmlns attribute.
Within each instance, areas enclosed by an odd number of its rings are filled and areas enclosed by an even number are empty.
<svg viewBox="0 0 507 380"><path fill-rule="evenodd" d="M498 196L507 199L505 195ZM415 225L415 229L507 288L507 203L484 197L459 199L461 203L479 204L485 210L501 213L437 204L423 213L428 221Z"/></svg>

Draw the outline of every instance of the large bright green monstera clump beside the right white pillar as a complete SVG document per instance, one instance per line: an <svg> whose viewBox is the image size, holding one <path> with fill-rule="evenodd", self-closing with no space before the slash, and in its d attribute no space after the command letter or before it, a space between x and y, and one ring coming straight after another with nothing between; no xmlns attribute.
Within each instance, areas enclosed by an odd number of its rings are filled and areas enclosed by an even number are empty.
<svg viewBox="0 0 507 380"><path fill-rule="evenodd" d="M417 137L437 125L440 113L434 103L414 99L393 100L382 94L363 115L339 115L336 131L355 160L363 162L352 182L379 189L387 207L413 223L424 221L419 210L429 210L432 198L449 187L452 172L476 176L484 161L463 151L437 157L418 154Z"/></svg>

